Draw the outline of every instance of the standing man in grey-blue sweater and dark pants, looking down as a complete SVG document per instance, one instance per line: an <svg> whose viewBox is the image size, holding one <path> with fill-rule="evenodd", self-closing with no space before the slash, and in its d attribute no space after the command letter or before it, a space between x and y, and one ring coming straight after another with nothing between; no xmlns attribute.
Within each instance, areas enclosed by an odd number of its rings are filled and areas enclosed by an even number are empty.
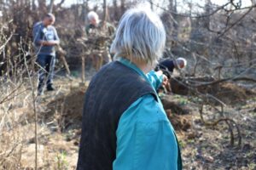
<svg viewBox="0 0 256 170"><path fill-rule="evenodd" d="M33 43L40 66L38 75L38 95L43 94L46 81L48 91L53 91L53 76L55 68L55 45L60 43L57 31L52 26L55 23L53 14L45 14L44 19L33 26Z"/></svg>

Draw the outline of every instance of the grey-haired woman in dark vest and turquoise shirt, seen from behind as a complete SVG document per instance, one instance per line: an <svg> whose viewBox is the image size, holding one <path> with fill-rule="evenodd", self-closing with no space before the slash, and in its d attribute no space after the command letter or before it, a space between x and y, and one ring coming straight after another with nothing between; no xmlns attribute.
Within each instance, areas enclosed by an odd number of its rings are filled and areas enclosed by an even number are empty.
<svg viewBox="0 0 256 170"><path fill-rule="evenodd" d="M151 71L165 42L164 26L149 9L123 15L111 47L115 61L85 94L77 169L182 169L174 129L155 92L166 77Z"/></svg>

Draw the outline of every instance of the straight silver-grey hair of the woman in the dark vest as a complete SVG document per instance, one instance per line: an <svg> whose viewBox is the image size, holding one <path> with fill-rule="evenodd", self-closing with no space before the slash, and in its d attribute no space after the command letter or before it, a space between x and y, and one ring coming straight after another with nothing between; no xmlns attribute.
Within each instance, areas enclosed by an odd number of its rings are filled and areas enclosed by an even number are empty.
<svg viewBox="0 0 256 170"><path fill-rule="evenodd" d="M131 8L122 16L110 51L116 57L154 64L166 44L166 31L149 8Z"/></svg>

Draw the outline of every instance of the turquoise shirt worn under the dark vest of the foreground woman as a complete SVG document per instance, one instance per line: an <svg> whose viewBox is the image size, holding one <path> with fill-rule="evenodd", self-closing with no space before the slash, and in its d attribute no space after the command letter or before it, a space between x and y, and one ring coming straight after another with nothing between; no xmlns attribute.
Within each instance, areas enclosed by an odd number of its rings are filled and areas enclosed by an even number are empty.
<svg viewBox="0 0 256 170"><path fill-rule="evenodd" d="M159 88L162 76L147 75L126 59L119 62L137 71L141 77ZM160 99L151 94L137 99L119 119L116 131L117 150L113 170L176 170L177 139Z"/></svg>

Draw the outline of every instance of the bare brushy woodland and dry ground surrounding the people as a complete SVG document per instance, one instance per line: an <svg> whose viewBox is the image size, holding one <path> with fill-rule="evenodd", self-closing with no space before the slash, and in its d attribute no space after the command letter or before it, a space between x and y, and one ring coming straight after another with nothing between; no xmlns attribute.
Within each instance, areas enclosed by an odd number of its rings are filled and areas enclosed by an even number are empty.
<svg viewBox="0 0 256 170"><path fill-rule="evenodd" d="M75 169L84 92L96 73L90 52L77 48L86 14L117 26L138 3L164 22L164 57L188 59L172 77L173 94L161 96L184 169L255 169L256 1L248 2L0 0L0 169ZM38 97L32 26L48 12L66 53L57 53L57 90Z"/></svg>

